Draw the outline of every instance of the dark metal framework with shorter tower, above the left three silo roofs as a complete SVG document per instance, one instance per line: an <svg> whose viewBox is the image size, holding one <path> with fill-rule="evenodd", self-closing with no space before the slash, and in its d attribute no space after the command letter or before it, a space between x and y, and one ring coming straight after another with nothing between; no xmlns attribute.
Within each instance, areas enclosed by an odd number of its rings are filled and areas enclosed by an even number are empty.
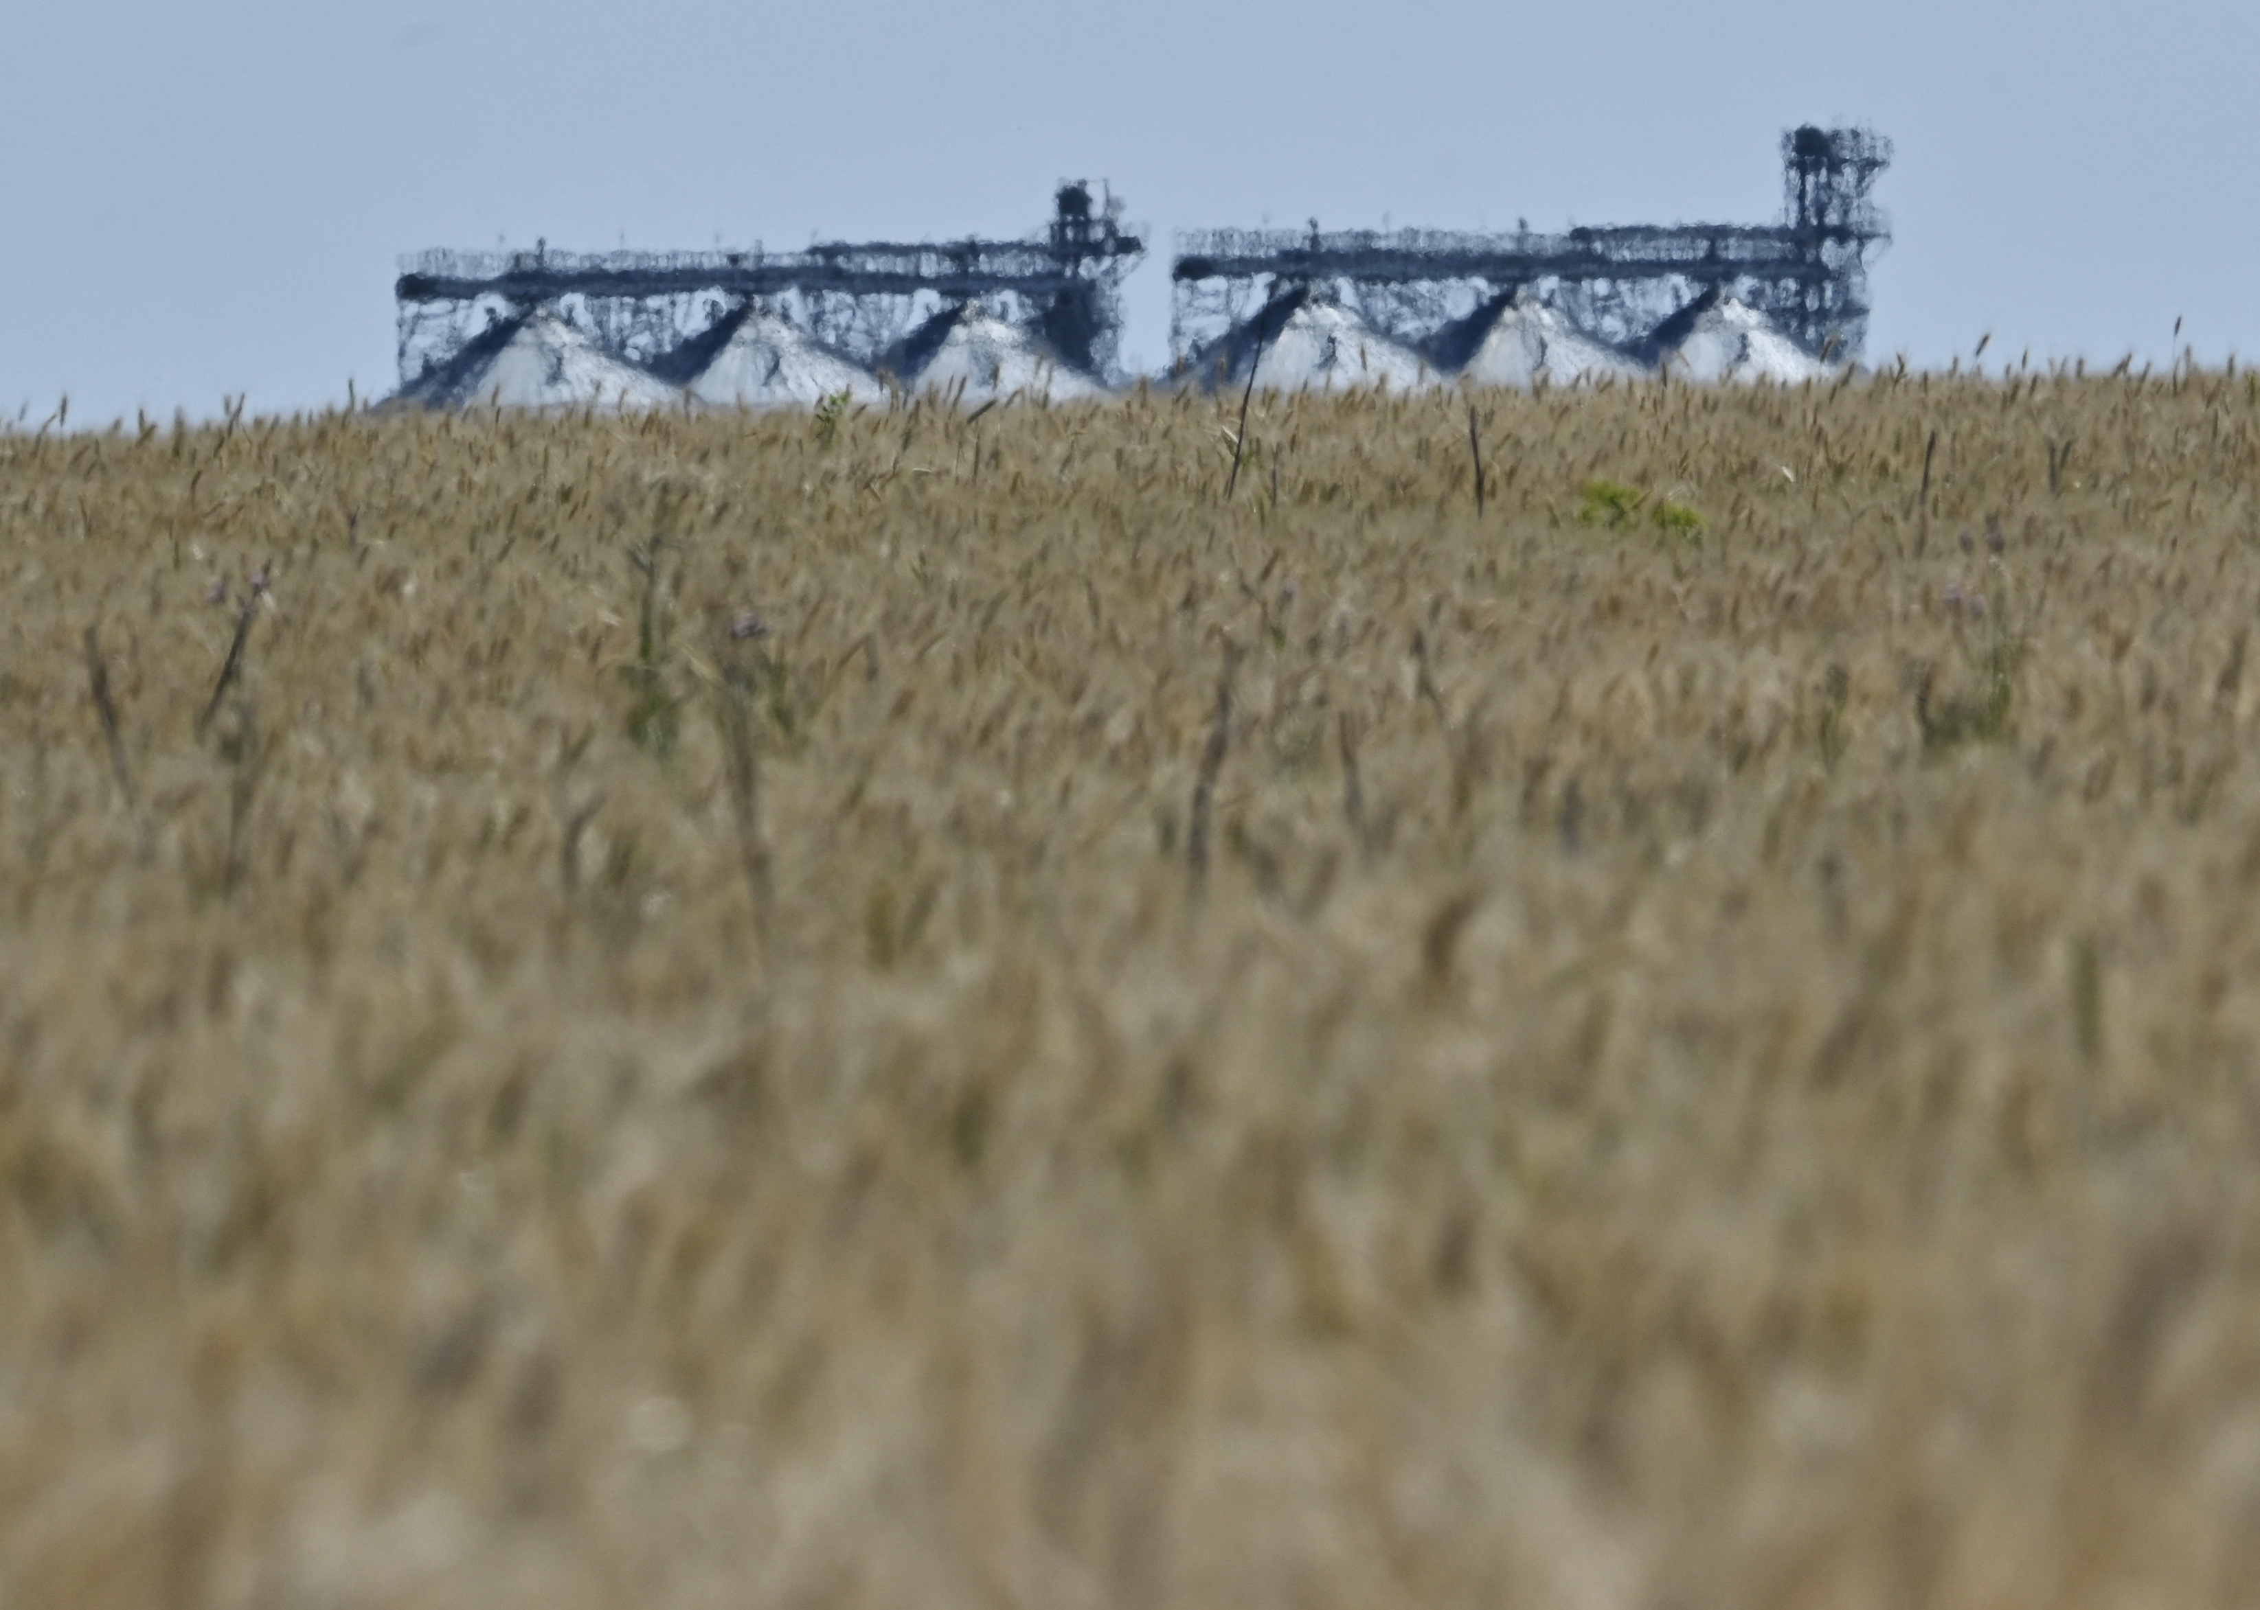
<svg viewBox="0 0 2260 1610"><path fill-rule="evenodd" d="M796 253L515 253L425 251L402 260L400 384L445 366L486 327L558 307L631 364L655 364L748 300L868 366L929 314L981 300L1028 325L1064 364L1112 375L1121 280L1146 244L1121 226L1112 194L1062 183L1051 226L1033 239L823 244Z"/></svg>

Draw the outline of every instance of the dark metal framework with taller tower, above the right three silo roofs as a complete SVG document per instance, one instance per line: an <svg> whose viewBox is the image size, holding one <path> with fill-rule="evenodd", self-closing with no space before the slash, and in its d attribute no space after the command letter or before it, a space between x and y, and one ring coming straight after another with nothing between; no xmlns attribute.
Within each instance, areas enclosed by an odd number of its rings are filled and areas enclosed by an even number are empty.
<svg viewBox="0 0 2260 1610"><path fill-rule="evenodd" d="M1767 314L1822 359L1867 341L1867 264L1889 242L1869 201L1892 142L1869 129L1781 135L1781 224L1573 228L1559 235L1453 230L1198 230L1177 235L1171 350L1196 361L1286 294L1342 298L1410 345L1485 303L1532 289L1580 330L1645 352L1670 314L1718 287Z"/></svg>

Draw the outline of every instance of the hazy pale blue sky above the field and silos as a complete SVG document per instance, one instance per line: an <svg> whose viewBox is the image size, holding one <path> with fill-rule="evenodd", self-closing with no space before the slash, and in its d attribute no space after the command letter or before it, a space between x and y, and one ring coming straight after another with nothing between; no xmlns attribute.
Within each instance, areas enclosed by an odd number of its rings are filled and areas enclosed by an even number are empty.
<svg viewBox="0 0 2260 1610"><path fill-rule="evenodd" d="M1216 5L9 0L0 404L72 422L393 382L420 246L1003 233L1112 178L1173 228L1772 219L1864 120L1869 357L2260 355L2260 9L2226 0Z"/></svg>

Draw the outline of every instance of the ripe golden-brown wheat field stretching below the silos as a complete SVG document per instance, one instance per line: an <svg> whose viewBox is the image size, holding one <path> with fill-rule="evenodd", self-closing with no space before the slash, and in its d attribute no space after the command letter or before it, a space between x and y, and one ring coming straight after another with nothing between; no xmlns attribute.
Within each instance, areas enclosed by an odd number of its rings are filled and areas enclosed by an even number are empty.
<svg viewBox="0 0 2260 1610"><path fill-rule="evenodd" d="M2251 1603L2260 388L1236 427L0 436L0 1603Z"/></svg>

